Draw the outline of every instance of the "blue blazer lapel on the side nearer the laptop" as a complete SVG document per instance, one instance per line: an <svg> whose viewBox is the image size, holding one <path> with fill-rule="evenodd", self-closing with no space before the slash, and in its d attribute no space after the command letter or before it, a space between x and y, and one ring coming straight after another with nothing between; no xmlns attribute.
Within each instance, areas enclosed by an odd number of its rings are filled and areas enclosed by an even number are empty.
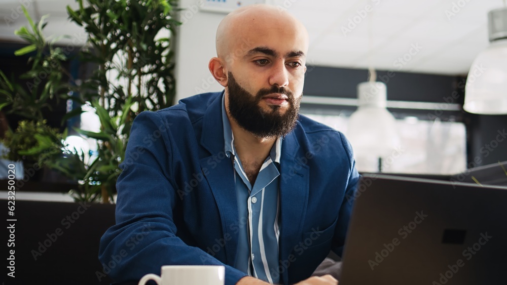
<svg viewBox="0 0 507 285"><path fill-rule="evenodd" d="M304 153L298 153L296 131L287 135L282 144L280 163L280 260L291 260L297 241L301 237L309 194L309 169L304 162ZM295 258L298 258L295 256ZM283 280L288 282L288 270L283 270Z"/></svg>

